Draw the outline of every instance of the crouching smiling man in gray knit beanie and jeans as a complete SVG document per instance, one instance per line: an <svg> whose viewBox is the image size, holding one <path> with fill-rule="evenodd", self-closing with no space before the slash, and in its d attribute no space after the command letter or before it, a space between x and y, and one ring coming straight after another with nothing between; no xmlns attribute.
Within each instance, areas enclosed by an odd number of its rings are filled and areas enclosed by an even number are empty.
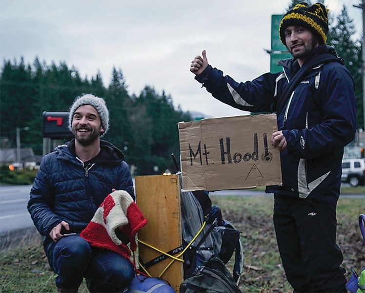
<svg viewBox="0 0 365 293"><path fill-rule="evenodd" d="M45 236L58 292L77 292L83 277L90 292L118 292L132 281L133 265L115 252L90 248L79 233L112 189L135 198L131 174L122 151L100 139L109 128L103 99L91 94L76 98L69 128L75 138L41 161L28 211Z"/></svg>

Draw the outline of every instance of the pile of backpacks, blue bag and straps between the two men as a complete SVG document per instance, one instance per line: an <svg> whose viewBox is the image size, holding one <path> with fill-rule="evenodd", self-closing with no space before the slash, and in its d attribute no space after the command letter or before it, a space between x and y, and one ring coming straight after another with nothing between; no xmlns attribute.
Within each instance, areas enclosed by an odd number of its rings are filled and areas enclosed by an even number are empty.
<svg viewBox="0 0 365 293"><path fill-rule="evenodd" d="M181 173L178 172L176 175L181 187ZM175 290L182 293L241 292L238 288L243 269L240 231L222 218L220 208L212 206L208 192L204 190L190 192L181 189L180 206L182 246L162 252L160 256L145 263L139 258L141 266L139 270L148 274L146 270L148 267L175 254L176 257L183 259L183 281L180 289L171 284ZM138 241L141 242L140 239ZM235 256L232 260L231 273L226 264L233 254ZM165 270L168 268L169 265ZM158 277L146 278L137 275L127 292L159 292L162 289L164 292L174 292L174 289L163 280L163 272Z"/></svg>

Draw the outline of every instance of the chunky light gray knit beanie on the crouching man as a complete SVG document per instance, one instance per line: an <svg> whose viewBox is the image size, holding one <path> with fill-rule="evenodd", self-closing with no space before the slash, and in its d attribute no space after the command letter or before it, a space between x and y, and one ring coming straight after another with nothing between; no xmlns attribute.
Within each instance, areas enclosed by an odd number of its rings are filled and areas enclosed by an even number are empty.
<svg viewBox="0 0 365 293"><path fill-rule="evenodd" d="M104 128L104 133L109 129L109 111L106 107L105 101L99 97L95 97L92 94L86 94L79 96L75 99L74 104L70 107L70 114L68 116L68 128L71 130L72 127L72 118L74 117L75 111L82 105L91 105L93 106L101 120L101 126Z"/></svg>

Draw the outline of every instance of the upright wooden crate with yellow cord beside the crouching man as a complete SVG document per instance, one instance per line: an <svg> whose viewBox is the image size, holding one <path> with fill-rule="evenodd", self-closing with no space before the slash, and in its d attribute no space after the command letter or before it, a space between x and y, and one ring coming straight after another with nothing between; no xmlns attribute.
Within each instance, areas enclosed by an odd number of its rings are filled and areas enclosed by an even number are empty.
<svg viewBox="0 0 365 293"><path fill-rule="evenodd" d="M139 240L163 252L182 246L180 183L177 175L137 176L136 203L147 219L147 225L138 233ZM162 255L140 242L138 252L143 263ZM175 257L177 255L174 254ZM152 277L158 277L172 260L167 257L147 268L147 271ZM175 260L161 278L179 292L183 280L182 262Z"/></svg>

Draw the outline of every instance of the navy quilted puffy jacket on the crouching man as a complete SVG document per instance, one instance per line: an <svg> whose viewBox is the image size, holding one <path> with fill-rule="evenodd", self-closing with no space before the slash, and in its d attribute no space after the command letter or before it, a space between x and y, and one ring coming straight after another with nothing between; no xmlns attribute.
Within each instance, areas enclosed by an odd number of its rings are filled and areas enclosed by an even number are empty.
<svg viewBox="0 0 365 293"><path fill-rule="evenodd" d="M69 224L69 232L81 232L112 188L134 198L132 177L120 149L101 140L101 152L84 166L70 151L72 145L73 141L58 146L42 159L30 191L28 211L46 236L44 245L52 241L49 232L61 221Z"/></svg>

